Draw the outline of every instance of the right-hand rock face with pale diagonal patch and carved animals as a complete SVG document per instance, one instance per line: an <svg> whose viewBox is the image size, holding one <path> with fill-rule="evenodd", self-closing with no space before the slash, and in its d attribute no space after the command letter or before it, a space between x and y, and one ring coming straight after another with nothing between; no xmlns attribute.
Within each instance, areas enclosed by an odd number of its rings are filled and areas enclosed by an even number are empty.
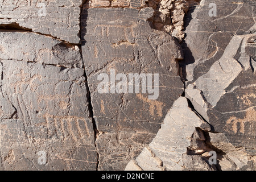
<svg viewBox="0 0 256 182"><path fill-rule="evenodd" d="M216 5L216 16L208 14L210 3ZM227 143L222 146L230 143L245 147L253 155L256 150L255 1L206 0L200 5L185 20L189 24L181 65L187 72L186 97L212 125L212 131L224 134ZM227 148L223 151L233 150Z"/></svg>

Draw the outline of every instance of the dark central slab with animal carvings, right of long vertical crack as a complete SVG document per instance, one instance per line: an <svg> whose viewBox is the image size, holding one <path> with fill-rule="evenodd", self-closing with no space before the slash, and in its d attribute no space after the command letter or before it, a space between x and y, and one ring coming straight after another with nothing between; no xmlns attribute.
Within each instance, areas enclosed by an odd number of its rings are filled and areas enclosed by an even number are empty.
<svg viewBox="0 0 256 182"><path fill-rule="evenodd" d="M183 93L177 76L177 60L183 58L180 46L170 35L150 27L146 20L151 16L150 7L84 9L82 13L82 53L99 131L99 169L124 169L154 138L168 109ZM113 72L127 77L129 73L152 74L157 90L149 93L147 85L146 93L141 86L139 93L112 93L109 81ZM98 90L102 74L109 78L107 93ZM159 81L154 81L156 74ZM151 82L148 77L147 81Z"/></svg>

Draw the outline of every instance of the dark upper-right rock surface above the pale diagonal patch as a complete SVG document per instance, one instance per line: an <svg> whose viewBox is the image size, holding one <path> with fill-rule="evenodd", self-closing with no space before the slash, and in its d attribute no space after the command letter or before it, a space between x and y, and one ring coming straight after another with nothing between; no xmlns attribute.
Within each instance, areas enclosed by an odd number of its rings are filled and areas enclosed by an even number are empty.
<svg viewBox="0 0 256 182"><path fill-rule="evenodd" d="M221 58L233 36L249 35L255 23L253 1L202 1L191 7L185 19L184 61L188 81L209 71L212 64ZM217 16L209 16L210 3L215 3ZM187 46L186 46L187 45ZM185 47L186 46L186 47ZM239 58L239 57L238 57Z"/></svg>

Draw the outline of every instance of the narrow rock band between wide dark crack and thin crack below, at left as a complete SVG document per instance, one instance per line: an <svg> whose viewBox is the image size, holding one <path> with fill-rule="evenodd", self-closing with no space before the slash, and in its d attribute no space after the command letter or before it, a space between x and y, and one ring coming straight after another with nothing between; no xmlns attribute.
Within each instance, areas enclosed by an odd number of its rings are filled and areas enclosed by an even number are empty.
<svg viewBox="0 0 256 182"><path fill-rule="evenodd" d="M82 68L79 47L51 36L42 36L27 31L2 30L0 39L1 59Z"/></svg>

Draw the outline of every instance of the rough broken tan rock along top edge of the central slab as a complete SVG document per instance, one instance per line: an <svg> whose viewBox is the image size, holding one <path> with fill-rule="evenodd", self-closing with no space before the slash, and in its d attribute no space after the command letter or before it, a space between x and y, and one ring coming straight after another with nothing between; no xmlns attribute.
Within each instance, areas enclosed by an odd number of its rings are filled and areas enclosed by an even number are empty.
<svg viewBox="0 0 256 182"><path fill-rule="evenodd" d="M146 10L152 8L154 13L148 16L151 26L156 30L167 32L179 41L184 38L184 15L188 10L189 3L183 0L91 0L87 1L86 8L95 7L129 7Z"/></svg>

